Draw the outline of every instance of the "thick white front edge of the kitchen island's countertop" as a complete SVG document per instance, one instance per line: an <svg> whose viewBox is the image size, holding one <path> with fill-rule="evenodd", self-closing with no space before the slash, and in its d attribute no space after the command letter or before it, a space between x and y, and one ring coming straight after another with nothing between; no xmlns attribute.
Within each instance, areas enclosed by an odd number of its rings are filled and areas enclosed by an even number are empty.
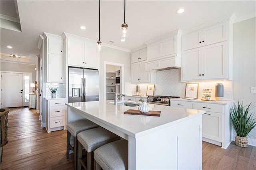
<svg viewBox="0 0 256 170"><path fill-rule="evenodd" d="M108 102L108 101L106 101L106 102ZM108 122L102 120L102 119L99 119L98 117L94 117L94 116L90 115L89 113L86 113L85 111L82 111L82 110L80 110L80 109L78 109L78 108L76 108L76 107L73 107L73 106L69 105L69 103L66 103L66 105L67 105L68 107L71 107L72 109L75 109L76 111L79 111L79 112L85 114L86 116L88 116L88 117L90 117L90 118L92 118L92 119L94 119L94 120L96 120L96 121L99 121L100 123L103 123L103 124L108 125L108 126L110 126L110 127L112 127L112 128L115 128L115 129L117 129L117 130L119 130L119 131L121 131L121 132L123 132L123 133L125 133L125 134L128 134L129 136L132 136L132 137L134 137L134 138L139 138L139 137L141 137L141 136L144 136L144 135L146 135L146 134L150 134L150 133L155 132L155 131L157 131L157 130L160 130L160 129L162 129L162 128L170 127L170 126L175 125L175 124L177 124L177 123L186 121L186 120L188 120L188 119L191 119L191 118L193 118L193 117L197 117L197 116L199 116L199 115L203 115L204 113L206 113L206 111L198 110L198 113L195 114L195 115L191 115L191 116L189 116L189 117L184 117L184 118L182 118L182 119L178 119L178 120L176 120L176 121L172 121L172 122L166 123L166 124L164 124L164 125L160 125L160 126L157 126L157 127L150 128L150 129L148 129L148 130L144 130L144 131L142 131L142 132L133 133L133 132L130 132L130 131L128 131L128 130L125 130L124 128L115 126L115 125L113 125L113 124L111 124L111 123L108 123ZM196 109L194 109L194 110L196 110ZM131 115L130 115L130 116L131 116ZM137 117L139 117L140 115L132 115L132 116L137 116ZM151 116L149 116L149 117L151 117ZM88 118L87 118L87 119L88 119ZM89 120L92 121L92 119L89 119Z"/></svg>

